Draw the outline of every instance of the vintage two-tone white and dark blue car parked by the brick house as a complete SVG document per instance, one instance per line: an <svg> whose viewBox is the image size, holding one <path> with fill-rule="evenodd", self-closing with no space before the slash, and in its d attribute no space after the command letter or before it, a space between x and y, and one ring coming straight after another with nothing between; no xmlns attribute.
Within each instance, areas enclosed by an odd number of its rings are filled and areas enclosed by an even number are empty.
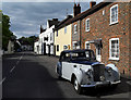
<svg viewBox="0 0 131 100"><path fill-rule="evenodd" d="M120 83L117 66L98 62L93 50L62 51L56 72L59 77L70 80L78 93L86 87L117 87Z"/></svg>

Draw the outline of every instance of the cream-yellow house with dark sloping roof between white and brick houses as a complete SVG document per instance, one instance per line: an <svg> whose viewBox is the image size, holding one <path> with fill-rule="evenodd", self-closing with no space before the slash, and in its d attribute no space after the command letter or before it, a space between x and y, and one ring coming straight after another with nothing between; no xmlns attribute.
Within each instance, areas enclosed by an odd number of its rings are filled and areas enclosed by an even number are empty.
<svg viewBox="0 0 131 100"><path fill-rule="evenodd" d="M55 54L58 57L61 51L71 49L72 24L68 23L71 18L68 15L55 29Z"/></svg>

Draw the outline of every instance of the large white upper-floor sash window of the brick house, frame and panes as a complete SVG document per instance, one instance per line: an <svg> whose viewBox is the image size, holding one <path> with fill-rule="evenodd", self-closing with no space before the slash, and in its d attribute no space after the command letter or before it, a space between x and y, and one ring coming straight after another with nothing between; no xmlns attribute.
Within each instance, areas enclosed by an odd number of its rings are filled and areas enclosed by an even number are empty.
<svg viewBox="0 0 131 100"><path fill-rule="evenodd" d="M118 4L110 8L110 24L118 23Z"/></svg>

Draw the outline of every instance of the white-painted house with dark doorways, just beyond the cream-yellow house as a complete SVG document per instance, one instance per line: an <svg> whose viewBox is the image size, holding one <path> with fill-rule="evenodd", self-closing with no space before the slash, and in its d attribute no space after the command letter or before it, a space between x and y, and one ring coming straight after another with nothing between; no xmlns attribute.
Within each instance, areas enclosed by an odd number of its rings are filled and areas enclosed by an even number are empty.
<svg viewBox="0 0 131 100"><path fill-rule="evenodd" d="M53 41L55 41L55 33L53 29L56 25L58 25L59 21L58 18L52 18L47 21L47 28L43 29L40 27L40 34L39 34L39 40L38 40L38 54L48 54L48 55L53 55L55 50L53 50ZM37 48L37 42L34 43L35 48ZM36 51L35 51L36 52Z"/></svg>

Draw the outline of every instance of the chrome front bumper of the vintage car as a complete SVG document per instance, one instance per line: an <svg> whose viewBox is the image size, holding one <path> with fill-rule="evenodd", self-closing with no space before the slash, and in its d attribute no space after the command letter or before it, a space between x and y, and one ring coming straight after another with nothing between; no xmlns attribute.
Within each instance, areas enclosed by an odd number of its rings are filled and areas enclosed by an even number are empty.
<svg viewBox="0 0 131 100"><path fill-rule="evenodd" d="M97 82L94 85L81 85L81 87L103 87L103 86L109 86L115 84L120 84L121 82Z"/></svg>

